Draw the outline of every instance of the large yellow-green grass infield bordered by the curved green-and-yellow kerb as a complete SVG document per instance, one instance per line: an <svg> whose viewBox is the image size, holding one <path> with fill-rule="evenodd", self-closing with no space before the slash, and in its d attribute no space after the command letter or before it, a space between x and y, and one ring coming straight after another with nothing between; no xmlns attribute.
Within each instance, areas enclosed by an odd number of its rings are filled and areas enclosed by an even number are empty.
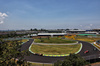
<svg viewBox="0 0 100 66"><path fill-rule="evenodd" d="M34 53L62 55L77 52L81 44L77 45L32 45L31 50Z"/></svg>

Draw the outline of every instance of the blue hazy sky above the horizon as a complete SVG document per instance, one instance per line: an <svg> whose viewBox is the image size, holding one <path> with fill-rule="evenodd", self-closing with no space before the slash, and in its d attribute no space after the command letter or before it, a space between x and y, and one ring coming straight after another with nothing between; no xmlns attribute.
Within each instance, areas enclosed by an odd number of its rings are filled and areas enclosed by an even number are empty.
<svg viewBox="0 0 100 66"><path fill-rule="evenodd" d="M0 30L100 28L100 0L0 0Z"/></svg>

